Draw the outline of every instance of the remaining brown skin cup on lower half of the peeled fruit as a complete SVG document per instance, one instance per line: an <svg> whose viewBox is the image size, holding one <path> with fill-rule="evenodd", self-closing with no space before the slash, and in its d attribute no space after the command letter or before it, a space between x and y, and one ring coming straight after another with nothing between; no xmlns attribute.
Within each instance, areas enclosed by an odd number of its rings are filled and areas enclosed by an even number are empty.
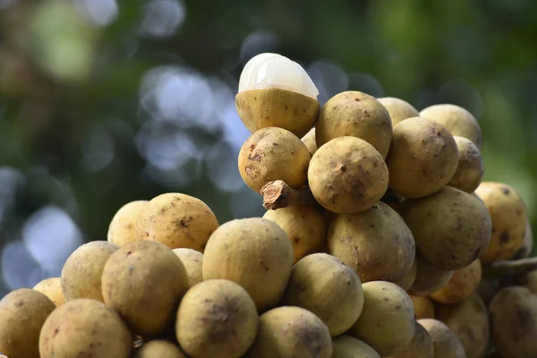
<svg viewBox="0 0 537 358"><path fill-rule="evenodd" d="M300 138L315 124L320 105L317 99L290 90L265 89L238 93L235 107L251 133L279 127Z"/></svg>

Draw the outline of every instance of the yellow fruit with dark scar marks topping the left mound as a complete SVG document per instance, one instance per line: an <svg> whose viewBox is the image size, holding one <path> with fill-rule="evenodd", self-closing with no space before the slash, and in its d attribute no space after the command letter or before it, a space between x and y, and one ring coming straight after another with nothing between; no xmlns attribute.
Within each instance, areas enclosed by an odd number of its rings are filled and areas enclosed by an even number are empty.
<svg viewBox="0 0 537 358"><path fill-rule="evenodd" d="M203 252L217 227L217 217L203 201L168 192L149 200L141 209L136 220L136 236L139 240L164 243L170 249Z"/></svg>

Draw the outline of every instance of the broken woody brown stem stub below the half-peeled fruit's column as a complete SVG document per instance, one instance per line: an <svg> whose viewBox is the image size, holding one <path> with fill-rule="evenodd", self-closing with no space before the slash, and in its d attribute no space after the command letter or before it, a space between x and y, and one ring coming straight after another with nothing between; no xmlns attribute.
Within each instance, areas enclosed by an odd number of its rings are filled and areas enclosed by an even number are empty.
<svg viewBox="0 0 537 358"><path fill-rule="evenodd" d="M287 208L294 205L316 205L310 189L294 190L283 180L268 182L261 188L263 206L268 210Z"/></svg>

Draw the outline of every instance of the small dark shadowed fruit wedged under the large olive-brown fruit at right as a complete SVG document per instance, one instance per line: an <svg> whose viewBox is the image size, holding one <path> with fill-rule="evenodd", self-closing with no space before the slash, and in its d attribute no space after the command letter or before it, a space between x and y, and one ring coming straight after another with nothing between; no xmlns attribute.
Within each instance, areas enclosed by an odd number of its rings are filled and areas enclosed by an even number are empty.
<svg viewBox="0 0 537 358"><path fill-rule="evenodd" d="M432 294L445 286L453 276L453 271L433 266L422 255L416 252L418 272L408 290L409 294L424 296Z"/></svg>

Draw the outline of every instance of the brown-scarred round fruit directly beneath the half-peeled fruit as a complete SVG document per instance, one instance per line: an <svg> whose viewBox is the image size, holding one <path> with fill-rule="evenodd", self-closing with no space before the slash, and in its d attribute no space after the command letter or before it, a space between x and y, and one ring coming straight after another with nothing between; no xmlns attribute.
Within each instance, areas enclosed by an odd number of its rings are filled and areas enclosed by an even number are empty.
<svg viewBox="0 0 537 358"><path fill-rule="evenodd" d="M307 183L310 159L310 150L292 132L268 127L244 141L239 152L239 173L254 192L275 180L300 189Z"/></svg>

